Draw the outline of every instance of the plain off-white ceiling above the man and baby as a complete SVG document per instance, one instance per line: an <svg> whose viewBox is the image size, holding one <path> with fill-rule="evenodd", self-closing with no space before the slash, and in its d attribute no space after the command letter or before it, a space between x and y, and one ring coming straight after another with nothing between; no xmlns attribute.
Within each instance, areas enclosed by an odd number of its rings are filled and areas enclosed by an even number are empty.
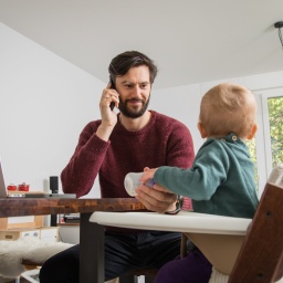
<svg viewBox="0 0 283 283"><path fill-rule="evenodd" d="M105 83L127 50L155 88L283 71L282 0L1 0L0 21Z"/></svg>

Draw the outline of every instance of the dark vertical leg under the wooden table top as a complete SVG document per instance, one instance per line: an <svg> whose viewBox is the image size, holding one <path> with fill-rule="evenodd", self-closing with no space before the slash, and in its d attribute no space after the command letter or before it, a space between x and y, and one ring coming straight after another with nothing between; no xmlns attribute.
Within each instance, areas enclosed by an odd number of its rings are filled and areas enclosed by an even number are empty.
<svg viewBox="0 0 283 283"><path fill-rule="evenodd" d="M91 216L80 220L80 283L104 283L104 226L90 222Z"/></svg>

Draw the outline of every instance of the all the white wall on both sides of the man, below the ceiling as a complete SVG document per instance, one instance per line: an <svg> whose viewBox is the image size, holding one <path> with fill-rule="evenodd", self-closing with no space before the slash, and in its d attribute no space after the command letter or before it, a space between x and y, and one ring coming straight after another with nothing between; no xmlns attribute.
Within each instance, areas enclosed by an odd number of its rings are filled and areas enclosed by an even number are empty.
<svg viewBox="0 0 283 283"><path fill-rule="evenodd" d="M105 83L1 23L0 39L0 156L7 184L46 190L49 176L60 175L84 125L99 118ZM258 91L282 87L282 77L283 71L226 81ZM199 103L218 83L154 88L149 108L186 124L197 150ZM98 196L97 184L95 189L87 197Z"/></svg>

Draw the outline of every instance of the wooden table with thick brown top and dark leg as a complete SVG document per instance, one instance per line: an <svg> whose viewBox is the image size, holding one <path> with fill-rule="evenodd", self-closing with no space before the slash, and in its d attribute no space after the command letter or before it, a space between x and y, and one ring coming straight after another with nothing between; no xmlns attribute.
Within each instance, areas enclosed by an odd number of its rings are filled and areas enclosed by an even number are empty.
<svg viewBox="0 0 283 283"><path fill-rule="evenodd" d="M90 222L94 211L132 211L145 207L134 198L104 199L0 199L0 218L81 213L80 283L104 282L104 227Z"/></svg>

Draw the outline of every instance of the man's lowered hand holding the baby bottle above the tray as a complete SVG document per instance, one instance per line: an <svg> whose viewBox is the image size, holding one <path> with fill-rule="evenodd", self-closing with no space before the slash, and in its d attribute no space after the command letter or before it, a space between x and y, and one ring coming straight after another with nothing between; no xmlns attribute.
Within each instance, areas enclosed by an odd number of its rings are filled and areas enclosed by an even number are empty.
<svg viewBox="0 0 283 283"><path fill-rule="evenodd" d="M138 199L148 210L164 213L176 209L177 196L166 188L155 184L153 189L145 185L136 188Z"/></svg>

